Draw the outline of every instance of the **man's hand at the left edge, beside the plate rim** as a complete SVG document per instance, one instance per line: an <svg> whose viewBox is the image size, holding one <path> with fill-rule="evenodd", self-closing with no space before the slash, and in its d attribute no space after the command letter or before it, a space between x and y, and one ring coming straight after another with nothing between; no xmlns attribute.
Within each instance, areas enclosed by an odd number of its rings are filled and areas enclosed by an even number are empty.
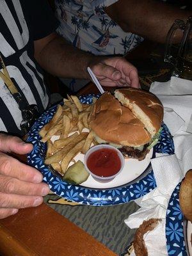
<svg viewBox="0 0 192 256"><path fill-rule="evenodd" d="M33 145L0 134L0 219L21 208L42 204L42 196L49 193L49 186L42 183L40 172L6 154L28 154L31 150Z"/></svg>

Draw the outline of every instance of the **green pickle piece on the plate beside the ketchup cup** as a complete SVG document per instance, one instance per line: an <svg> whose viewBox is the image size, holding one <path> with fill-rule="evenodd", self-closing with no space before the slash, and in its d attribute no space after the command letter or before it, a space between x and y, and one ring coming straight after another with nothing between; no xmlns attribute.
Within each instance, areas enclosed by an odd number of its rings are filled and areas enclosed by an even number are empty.
<svg viewBox="0 0 192 256"><path fill-rule="evenodd" d="M90 173L84 168L84 164L78 160L72 166L68 167L67 172L63 176L63 180L67 181L70 184L81 184L86 181Z"/></svg>

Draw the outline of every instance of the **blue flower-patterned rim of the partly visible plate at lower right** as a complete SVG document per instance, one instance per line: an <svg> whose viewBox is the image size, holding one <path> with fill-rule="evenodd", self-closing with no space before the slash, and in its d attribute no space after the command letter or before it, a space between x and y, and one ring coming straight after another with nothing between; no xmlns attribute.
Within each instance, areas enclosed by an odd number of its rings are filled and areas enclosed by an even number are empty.
<svg viewBox="0 0 192 256"><path fill-rule="evenodd" d="M180 183L174 189L166 212L166 248L168 255L187 256L184 243L183 214L179 205Z"/></svg>

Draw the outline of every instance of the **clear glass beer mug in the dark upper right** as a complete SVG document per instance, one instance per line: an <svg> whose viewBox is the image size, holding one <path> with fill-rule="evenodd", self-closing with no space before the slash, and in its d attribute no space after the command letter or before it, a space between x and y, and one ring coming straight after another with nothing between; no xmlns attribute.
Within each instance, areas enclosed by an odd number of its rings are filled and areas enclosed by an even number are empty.
<svg viewBox="0 0 192 256"><path fill-rule="evenodd" d="M173 36L177 29L182 30L182 39L177 56L171 53ZM192 17L185 23L183 20L175 20L166 38L164 61L174 66L172 76L192 80Z"/></svg>

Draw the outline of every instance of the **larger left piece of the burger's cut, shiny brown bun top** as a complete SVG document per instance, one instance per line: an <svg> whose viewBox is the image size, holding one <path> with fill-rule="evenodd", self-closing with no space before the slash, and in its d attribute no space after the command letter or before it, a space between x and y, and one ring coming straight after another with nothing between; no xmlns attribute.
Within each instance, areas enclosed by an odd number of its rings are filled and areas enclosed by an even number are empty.
<svg viewBox="0 0 192 256"><path fill-rule="evenodd" d="M107 92L95 102L90 127L102 140L118 145L138 147L151 138L143 123Z"/></svg>

